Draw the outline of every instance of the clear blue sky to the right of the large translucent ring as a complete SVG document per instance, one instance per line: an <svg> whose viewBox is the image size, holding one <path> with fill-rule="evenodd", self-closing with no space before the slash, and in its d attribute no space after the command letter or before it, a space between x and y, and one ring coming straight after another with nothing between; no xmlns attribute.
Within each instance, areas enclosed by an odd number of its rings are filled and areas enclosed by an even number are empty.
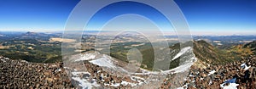
<svg viewBox="0 0 256 89"><path fill-rule="evenodd" d="M191 31L256 34L255 0L175 0Z"/></svg>

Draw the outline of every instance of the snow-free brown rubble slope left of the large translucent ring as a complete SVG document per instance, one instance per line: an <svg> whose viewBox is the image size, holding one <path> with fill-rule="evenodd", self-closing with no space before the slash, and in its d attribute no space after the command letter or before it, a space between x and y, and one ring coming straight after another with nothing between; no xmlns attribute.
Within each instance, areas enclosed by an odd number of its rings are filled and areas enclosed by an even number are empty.
<svg viewBox="0 0 256 89"><path fill-rule="evenodd" d="M28 63L0 57L0 76L0 88L73 88L61 63Z"/></svg>

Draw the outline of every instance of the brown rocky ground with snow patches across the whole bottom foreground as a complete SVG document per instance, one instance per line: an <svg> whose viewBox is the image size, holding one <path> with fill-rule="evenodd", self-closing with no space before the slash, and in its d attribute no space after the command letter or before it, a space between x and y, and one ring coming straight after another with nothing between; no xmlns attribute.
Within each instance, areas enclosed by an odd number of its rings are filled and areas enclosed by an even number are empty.
<svg viewBox="0 0 256 89"><path fill-rule="evenodd" d="M114 76L102 70L101 67L84 62L88 72L79 73L72 70L67 74L63 64L29 63L24 60L12 60L0 57L0 88L82 88L90 79L91 87L106 88L132 88L143 84L145 76ZM66 68L66 70L68 70ZM82 74L82 75L79 75ZM72 81L68 78L72 75ZM171 75L172 76L172 75ZM91 77L91 78L89 78ZM256 89L256 57L243 58L225 65L212 65L206 69L192 66L185 83L179 84L179 88L189 89ZM79 81L84 81L79 82ZM74 86L72 85L72 83ZM172 87L172 77L166 77L160 88ZM94 86L93 86L94 85ZM152 85L148 85L152 86ZM140 87L143 88L143 87Z"/></svg>

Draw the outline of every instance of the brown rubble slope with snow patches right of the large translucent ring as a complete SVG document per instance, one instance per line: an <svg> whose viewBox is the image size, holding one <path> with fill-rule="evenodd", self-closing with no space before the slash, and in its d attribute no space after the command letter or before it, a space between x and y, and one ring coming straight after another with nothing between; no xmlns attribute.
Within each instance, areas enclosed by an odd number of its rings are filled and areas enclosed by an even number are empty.
<svg viewBox="0 0 256 89"><path fill-rule="evenodd" d="M256 57L243 58L225 65L212 65L207 69L192 66L182 88L256 89Z"/></svg>

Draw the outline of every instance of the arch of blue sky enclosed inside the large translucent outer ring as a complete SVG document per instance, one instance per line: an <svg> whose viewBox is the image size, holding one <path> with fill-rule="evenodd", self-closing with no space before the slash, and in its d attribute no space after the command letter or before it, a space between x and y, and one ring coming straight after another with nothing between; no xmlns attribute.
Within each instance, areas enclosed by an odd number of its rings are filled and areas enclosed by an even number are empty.
<svg viewBox="0 0 256 89"><path fill-rule="evenodd" d="M160 11L158 11L157 9L143 3L119 2L119 3L109 4L107 7L100 9L90 19L89 24L87 25L88 30L100 30L102 26L108 24L108 22L116 19L116 17L121 16L123 14L132 15L132 16L135 16L133 14L137 14L137 16L143 17L143 18L137 18L137 21L139 22L133 22L133 20L129 20L129 18L126 18L129 21L120 20L119 22L116 23L116 26L123 25L123 23L126 23L126 24L137 23L136 25L134 25L137 27L150 26L150 25L145 25L144 23L146 22L143 22L144 21L143 19L149 19L155 25L158 25L160 28L166 29L165 31L167 31L168 29L172 29L172 24L170 23L170 21L166 19L165 15L161 14ZM150 27L148 27L148 29L150 29ZM112 30L112 31L116 31L116 30Z"/></svg>

